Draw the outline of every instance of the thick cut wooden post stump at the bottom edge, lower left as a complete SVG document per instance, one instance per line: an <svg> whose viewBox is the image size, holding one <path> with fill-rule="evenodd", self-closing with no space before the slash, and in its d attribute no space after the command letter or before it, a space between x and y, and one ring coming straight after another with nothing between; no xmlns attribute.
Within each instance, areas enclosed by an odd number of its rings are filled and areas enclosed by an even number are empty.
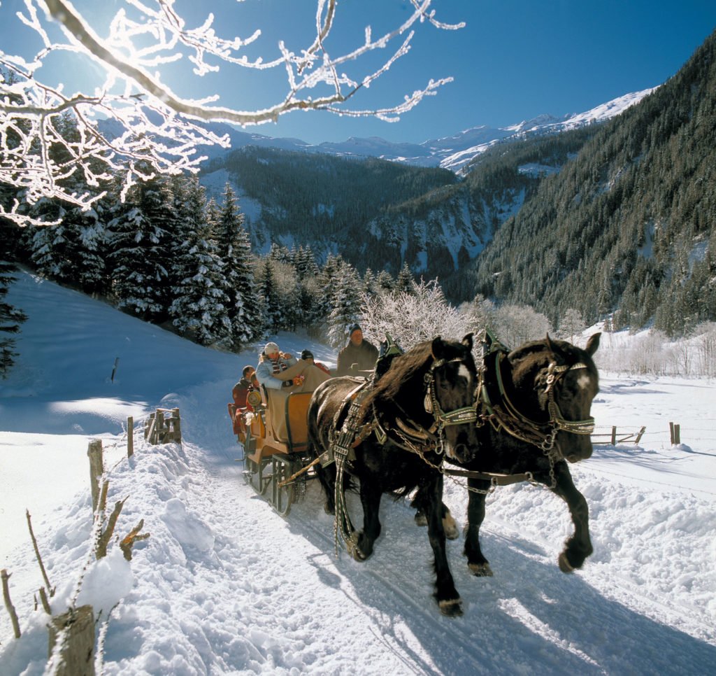
<svg viewBox="0 0 716 676"><path fill-rule="evenodd" d="M61 632L66 634L62 636ZM95 617L92 606L79 606L52 618L48 659L53 656L58 638L62 640L62 646L52 673L57 676L95 676Z"/></svg>

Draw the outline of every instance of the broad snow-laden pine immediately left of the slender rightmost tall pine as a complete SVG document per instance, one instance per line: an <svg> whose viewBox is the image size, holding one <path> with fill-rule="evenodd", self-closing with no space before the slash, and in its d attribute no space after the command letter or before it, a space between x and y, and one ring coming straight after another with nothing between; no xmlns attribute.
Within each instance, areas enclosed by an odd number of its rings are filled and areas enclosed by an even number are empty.
<svg viewBox="0 0 716 676"><path fill-rule="evenodd" d="M231 345L229 299L223 290L221 259L206 219L206 195L198 178L189 179L185 199L181 212L186 219L182 228L185 239L174 261L182 279L172 290L169 315L179 335L200 345Z"/></svg>

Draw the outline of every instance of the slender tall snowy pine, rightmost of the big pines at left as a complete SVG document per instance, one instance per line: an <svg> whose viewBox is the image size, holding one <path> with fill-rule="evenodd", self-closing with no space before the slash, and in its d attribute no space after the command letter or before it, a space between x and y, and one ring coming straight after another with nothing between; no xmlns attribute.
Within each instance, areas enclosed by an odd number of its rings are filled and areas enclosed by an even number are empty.
<svg viewBox="0 0 716 676"><path fill-rule="evenodd" d="M222 288L228 296L233 348L258 340L263 335L264 318L256 280L253 278L251 242L243 224L245 218L230 184L223 192L223 206L213 222L214 239L223 266Z"/></svg>

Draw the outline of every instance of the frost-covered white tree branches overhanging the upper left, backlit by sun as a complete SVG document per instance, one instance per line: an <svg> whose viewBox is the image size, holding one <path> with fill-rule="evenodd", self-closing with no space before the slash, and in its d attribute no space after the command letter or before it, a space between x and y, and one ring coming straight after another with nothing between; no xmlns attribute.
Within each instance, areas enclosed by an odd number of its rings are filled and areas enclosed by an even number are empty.
<svg viewBox="0 0 716 676"><path fill-rule="evenodd" d="M344 49L342 40L331 37L340 14L337 0L316 0L314 35L299 48L279 41L276 55L267 60L254 53L260 30L221 37L212 13L192 27L177 9L178 0L124 0L103 24L100 12L86 8L83 14L67 0L24 0L14 15L0 2L4 31L14 23L37 42L31 56L0 50L0 184L15 189L11 199L0 201L0 215L28 224L33 219L26 205L52 197L87 209L112 175L123 177L123 197L132 184L155 173L198 171L203 157L197 146L229 143L204 128L209 120L258 125L293 110L328 110L395 121L452 78L428 80L383 108L351 104L405 57L420 24L463 26L439 22L431 2L410 0L412 12L402 24L378 37L367 27L357 47ZM222 27L241 25L241 4ZM378 49L386 49L387 57L376 67L375 59L363 57ZM65 90L75 85L68 86L67 78L52 79L59 58L66 59L69 79L79 82L71 94ZM348 75L359 59L372 66L358 77ZM205 91L198 78L239 69L284 72L284 91L261 110L218 105L218 92L197 99L175 92L177 87Z"/></svg>

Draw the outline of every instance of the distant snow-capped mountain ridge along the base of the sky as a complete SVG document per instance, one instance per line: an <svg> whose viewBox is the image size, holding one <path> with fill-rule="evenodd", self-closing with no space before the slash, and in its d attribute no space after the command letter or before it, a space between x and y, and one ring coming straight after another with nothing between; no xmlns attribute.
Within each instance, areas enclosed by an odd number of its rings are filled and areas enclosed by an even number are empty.
<svg viewBox="0 0 716 676"><path fill-rule="evenodd" d="M237 148L243 148L243 146L260 146L344 157L374 157L403 162L412 166L440 166L458 172L475 156L494 146L495 143L510 139L516 140L532 134L558 133L604 122L619 115L634 103L638 103L652 91L654 91L653 88L632 92L602 103L584 113L571 113L563 115L561 118L553 117L553 115L538 115L532 120L523 120L520 123L500 128L482 125L460 131L452 136L431 139L422 143L392 143L384 138L371 136L369 138L351 137L340 143L326 141L312 144L298 138L272 138L257 133L247 133L231 125L216 124L212 125L213 130L229 135L231 149L202 148L202 153L212 159Z"/></svg>

